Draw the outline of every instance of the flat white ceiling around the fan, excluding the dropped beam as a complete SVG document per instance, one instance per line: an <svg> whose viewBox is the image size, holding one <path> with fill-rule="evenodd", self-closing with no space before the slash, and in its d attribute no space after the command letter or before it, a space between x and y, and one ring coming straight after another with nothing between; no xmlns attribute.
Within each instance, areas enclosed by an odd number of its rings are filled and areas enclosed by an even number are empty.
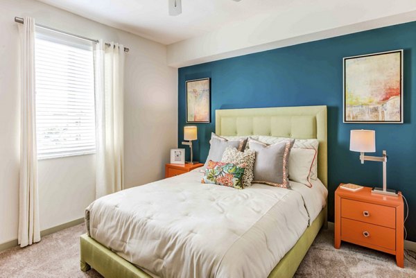
<svg viewBox="0 0 416 278"><path fill-rule="evenodd" d="M280 13L306 0L182 0L182 15L168 15L168 0L40 0L76 15L162 44L205 35L264 13Z"/></svg>

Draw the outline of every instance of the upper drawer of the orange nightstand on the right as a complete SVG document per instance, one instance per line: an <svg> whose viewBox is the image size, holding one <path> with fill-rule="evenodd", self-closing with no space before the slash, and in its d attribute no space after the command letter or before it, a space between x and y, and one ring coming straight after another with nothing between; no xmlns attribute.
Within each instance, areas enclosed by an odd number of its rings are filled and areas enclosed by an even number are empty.
<svg viewBox="0 0 416 278"><path fill-rule="evenodd" d="M396 228L396 209L374 205L368 202L359 202L341 199L341 217L372 223L392 229Z"/></svg>

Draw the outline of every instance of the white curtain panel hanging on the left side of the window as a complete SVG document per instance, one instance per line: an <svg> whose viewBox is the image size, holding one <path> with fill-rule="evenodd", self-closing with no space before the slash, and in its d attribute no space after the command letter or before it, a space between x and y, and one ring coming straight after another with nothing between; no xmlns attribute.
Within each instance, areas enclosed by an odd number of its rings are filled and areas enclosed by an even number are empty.
<svg viewBox="0 0 416 278"><path fill-rule="evenodd" d="M19 32L21 144L18 241L20 247L25 247L40 241L35 121L35 19L25 17Z"/></svg>

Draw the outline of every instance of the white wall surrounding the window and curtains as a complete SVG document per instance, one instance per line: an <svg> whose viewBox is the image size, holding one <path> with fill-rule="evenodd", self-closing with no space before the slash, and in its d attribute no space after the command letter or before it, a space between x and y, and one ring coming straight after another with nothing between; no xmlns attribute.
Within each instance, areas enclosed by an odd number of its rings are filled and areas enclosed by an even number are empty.
<svg viewBox="0 0 416 278"><path fill-rule="evenodd" d="M0 0L0 244L17 238L19 207L19 36L14 17L130 47L125 61L125 185L164 176L177 146L177 69L166 46L33 0ZM40 223L82 218L94 200L94 155L39 163Z"/></svg>

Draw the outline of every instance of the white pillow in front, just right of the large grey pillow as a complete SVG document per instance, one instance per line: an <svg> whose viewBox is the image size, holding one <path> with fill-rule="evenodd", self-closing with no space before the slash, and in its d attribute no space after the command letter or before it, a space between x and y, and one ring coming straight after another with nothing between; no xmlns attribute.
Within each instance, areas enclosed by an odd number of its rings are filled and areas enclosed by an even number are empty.
<svg viewBox="0 0 416 278"><path fill-rule="evenodd" d="M289 180L312 187L311 171L315 159L316 150L313 148L292 148L289 155Z"/></svg>

